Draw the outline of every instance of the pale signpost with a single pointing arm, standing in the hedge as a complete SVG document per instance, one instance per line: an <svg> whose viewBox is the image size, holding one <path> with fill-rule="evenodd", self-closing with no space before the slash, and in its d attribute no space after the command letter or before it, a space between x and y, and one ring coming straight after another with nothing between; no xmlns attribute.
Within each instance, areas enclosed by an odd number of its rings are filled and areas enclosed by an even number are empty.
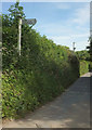
<svg viewBox="0 0 92 130"><path fill-rule="evenodd" d="M18 16L18 53L21 55L21 35L22 35L22 24L28 24L28 25L35 25L37 23L36 18L28 18L28 20L22 20L21 16Z"/></svg>

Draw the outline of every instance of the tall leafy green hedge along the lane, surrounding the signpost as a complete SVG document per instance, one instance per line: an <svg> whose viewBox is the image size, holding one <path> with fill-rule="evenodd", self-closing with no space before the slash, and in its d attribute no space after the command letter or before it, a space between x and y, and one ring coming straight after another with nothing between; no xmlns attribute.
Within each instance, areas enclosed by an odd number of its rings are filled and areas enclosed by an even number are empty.
<svg viewBox="0 0 92 130"><path fill-rule="evenodd" d="M22 26L19 56L16 17L23 8L18 3L12 8L12 16L2 16L2 117L15 118L60 95L79 77L79 61L67 47L56 46L28 25Z"/></svg>

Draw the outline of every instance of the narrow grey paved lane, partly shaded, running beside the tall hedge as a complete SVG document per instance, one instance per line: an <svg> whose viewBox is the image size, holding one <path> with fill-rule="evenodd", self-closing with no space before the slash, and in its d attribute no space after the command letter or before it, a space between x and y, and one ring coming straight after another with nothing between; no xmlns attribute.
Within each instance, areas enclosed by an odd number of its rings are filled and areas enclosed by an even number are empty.
<svg viewBox="0 0 92 130"><path fill-rule="evenodd" d="M83 75L55 101L3 128L90 128L90 76Z"/></svg>

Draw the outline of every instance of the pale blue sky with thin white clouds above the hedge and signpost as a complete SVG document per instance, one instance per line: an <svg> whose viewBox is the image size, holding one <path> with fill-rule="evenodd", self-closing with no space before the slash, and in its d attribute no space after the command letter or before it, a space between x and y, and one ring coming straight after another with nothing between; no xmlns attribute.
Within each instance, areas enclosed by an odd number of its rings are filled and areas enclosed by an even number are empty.
<svg viewBox="0 0 92 130"><path fill-rule="evenodd" d="M2 13L8 13L11 2L2 3ZM34 28L52 39L56 44L84 50L90 36L89 2L21 2L27 18L37 18Z"/></svg>

